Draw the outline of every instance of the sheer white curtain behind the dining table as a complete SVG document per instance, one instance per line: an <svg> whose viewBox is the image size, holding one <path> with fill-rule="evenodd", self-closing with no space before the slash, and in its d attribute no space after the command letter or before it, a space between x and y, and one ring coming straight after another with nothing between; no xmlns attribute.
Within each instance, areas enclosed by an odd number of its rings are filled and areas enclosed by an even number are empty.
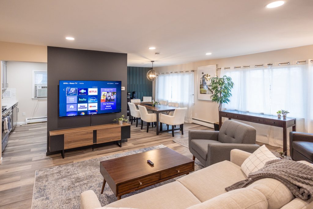
<svg viewBox="0 0 313 209"><path fill-rule="evenodd" d="M178 102L187 107L185 121L192 122L193 72L160 74L156 80L156 101Z"/></svg>

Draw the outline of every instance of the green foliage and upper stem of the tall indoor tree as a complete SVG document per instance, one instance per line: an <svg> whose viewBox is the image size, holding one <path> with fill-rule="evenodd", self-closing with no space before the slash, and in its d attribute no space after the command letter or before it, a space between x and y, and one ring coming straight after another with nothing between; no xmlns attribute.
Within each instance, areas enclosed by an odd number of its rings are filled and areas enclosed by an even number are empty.
<svg viewBox="0 0 313 209"><path fill-rule="evenodd" d="M222 104L230 102L229 98L232 96L231 90L234 86L234 83L231 77L223 76L219 78L218 76L211 78L211 90L213 95L211 99L213 102L219 104L218 110L222 110Z"/></svg>

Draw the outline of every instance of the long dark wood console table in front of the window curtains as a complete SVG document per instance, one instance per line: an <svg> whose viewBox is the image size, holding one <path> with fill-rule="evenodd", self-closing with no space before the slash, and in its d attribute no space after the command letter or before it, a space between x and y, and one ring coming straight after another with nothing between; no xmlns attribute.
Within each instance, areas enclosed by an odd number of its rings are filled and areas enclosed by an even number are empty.
<svg viewBox="0 0 313 209"><path fill-rule="evenodd" d="M278 118L275 115L264 115L252 112L242 112L237 110L223 110L219 112L219 128L221 128L222 117L230 119L238 119L249 121L253 123L260 123L269 126L276 126L283 128L283 151L287 151L287 128L292 127L292 131L296 131L296 119L286 118L283 116ZM287 153L286 153L287 154Z"/></svg>

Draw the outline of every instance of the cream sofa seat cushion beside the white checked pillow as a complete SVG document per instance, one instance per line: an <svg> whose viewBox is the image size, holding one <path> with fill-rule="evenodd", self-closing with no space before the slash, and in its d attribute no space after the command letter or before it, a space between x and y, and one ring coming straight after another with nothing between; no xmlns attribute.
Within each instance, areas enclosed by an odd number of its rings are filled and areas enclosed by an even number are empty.
<svg viewBox="0 0 313 209"><path fill-rule="evenodd" d="M246 179L238 165L227 160L177 179L201 202L225 193L225 187Z"/></svg>

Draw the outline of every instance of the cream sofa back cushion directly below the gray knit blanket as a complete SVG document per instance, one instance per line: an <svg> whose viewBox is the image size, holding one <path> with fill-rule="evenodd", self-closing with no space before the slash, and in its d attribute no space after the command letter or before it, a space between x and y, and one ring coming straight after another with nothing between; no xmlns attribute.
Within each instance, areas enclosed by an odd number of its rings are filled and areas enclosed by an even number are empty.
<svg viewBox="0 0 313 209"><path fill-rule="evenodd" d="M262 192L268 201L269 209L281 208L295 198L287 186L272 178L257 180L247 188L254 188Z"/></svg>

